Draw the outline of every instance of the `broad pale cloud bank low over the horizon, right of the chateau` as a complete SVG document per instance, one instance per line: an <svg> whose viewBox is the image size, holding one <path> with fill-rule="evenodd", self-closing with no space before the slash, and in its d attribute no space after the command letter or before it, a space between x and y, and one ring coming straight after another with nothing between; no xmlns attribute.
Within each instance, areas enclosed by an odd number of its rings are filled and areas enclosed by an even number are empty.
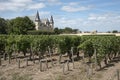
<svg viewBox="0 0 120 80"><path fill-rule="evenodd" d="M60 16L55 19L55 26L71 27L82 31L112 31L120 30L120 15L114 13L90 14L87 18L69 19Z"/></svg>

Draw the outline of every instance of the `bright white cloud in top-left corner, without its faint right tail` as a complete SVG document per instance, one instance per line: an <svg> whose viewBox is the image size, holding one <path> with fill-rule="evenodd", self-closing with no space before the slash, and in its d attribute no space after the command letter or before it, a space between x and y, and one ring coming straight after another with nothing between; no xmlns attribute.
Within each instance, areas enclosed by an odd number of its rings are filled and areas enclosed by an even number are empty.
<svg viewBox="0 0 120 80"><path fill-rule="evenodd" d="M0 11L22 11L44 8L45 4L33 0L8 0L0 2Z"/></svg>

